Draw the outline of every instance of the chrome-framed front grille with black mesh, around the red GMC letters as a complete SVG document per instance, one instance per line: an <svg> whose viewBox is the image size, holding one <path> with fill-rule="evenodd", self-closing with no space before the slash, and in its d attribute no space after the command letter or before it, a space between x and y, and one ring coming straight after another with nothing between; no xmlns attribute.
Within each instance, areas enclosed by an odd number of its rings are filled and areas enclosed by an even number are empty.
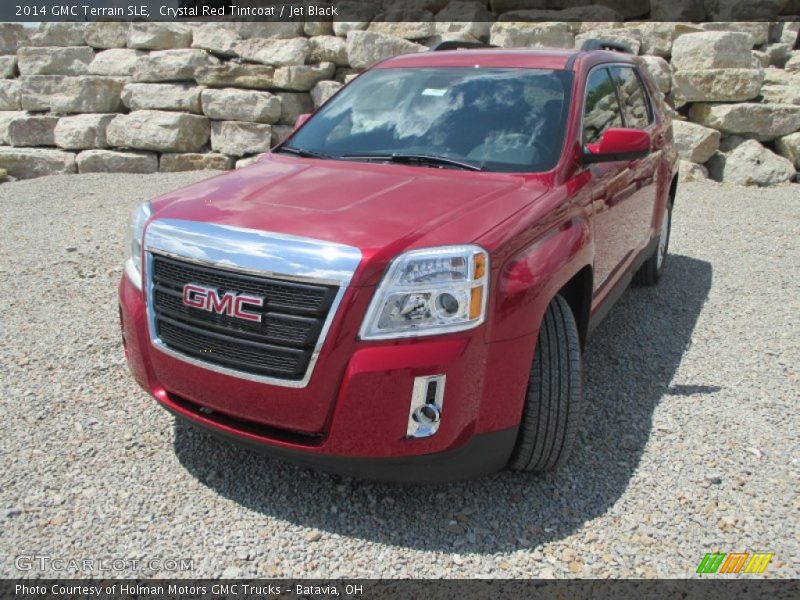
<svg viewBox="0 0 800 600"><path fill-rule="evenodd" d="M145 233L150 338L160 351L274 385L304 387L361 260L358 249L309 238L172 219ZM247 320L192 306L191 284L263 299Z"/></svg>

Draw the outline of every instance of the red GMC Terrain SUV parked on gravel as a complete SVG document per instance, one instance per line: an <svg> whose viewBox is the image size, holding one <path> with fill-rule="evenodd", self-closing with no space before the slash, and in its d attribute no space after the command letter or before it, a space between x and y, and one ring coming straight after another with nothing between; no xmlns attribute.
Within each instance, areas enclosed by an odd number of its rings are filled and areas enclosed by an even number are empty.
<svg viewBox="0 0 800 600"><path fill-rule="evenodd" d="M624 50L391 58L252 166L139 207L119 289L136 380L349 475L562 464L586 338L669 241L670 119Z"/></svg>

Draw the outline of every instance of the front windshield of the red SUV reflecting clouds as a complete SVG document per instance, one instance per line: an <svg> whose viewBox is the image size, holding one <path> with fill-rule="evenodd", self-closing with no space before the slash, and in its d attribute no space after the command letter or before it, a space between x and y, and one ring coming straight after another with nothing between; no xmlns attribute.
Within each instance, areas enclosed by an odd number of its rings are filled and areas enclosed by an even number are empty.
<svg viewBox="0 0 800 600"><path fill-rule="evenodd" d="M547 171L563 145L571 79L568 71L542 69L374 69L287 146L330 158L422 157L446 159L429 161L440 168Z"/></svg>

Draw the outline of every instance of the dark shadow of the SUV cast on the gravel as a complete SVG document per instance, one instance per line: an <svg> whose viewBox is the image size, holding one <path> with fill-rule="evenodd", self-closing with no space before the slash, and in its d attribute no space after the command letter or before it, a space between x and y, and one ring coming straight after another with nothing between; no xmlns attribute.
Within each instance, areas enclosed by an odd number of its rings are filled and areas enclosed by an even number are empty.
<svg viewBox="0 0 800 600"><path fill-rule="evenodd" d="M503 472L441 486L365 482L270 459L177 421L175 451L191 475L221 496L323 537L458 553L533 548L574 533L617 502L660 402L715 389L714 381L670 387L711 280L708 262L672 255L658 286L634 286L622 296L586 348L579 443L555 473ZM651 483L651 502L669 493ZM264 543L261 517L248 519Z"/></svg>

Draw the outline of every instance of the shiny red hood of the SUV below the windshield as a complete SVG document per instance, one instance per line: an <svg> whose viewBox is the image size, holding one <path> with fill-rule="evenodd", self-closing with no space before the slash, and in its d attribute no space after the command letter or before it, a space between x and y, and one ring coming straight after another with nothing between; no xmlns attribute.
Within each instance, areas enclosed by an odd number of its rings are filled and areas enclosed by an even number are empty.
<svg viewBox="0 0 800 600"><path fill-rule="evenodd" d="M386 260L469 243L539 197L523 176L270 154L153 202L155 218L305 236Z"/></svg>

